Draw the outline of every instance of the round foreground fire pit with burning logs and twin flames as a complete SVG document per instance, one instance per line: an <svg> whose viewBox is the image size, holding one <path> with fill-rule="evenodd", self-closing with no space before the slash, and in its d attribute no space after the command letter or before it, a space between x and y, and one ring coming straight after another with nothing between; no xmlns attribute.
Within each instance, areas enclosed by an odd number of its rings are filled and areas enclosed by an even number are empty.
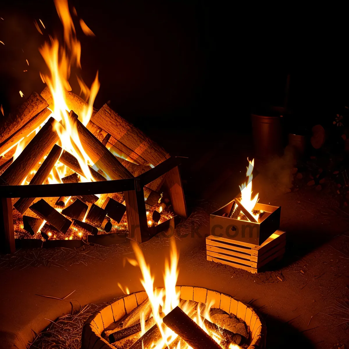
<svg viewBox="0 0 349 349"><path fill-rule="evenodd" d="M176 286L179 256L173 240L160 289L154 288L139 245L133 249L136 259L128 261L140 267L145 292L127 295L90 319L82 348L98 341L103 348L118 349L262 348L265 326L253 309L216 291Z"/></svg>

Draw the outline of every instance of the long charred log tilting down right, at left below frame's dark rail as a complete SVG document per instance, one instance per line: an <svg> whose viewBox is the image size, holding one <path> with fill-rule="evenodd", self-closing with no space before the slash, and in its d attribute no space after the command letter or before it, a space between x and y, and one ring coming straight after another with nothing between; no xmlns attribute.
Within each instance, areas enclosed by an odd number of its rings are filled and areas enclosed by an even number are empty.
<svg viewBox="0 0 349 349"><path fill-rule="evenodd" d="M44 199L33 203L29 207L35 214L49 222L54 228L60 230L62 233L66 233L72 222L68 218L64 217L53 207L51 207Z"/></svg>

